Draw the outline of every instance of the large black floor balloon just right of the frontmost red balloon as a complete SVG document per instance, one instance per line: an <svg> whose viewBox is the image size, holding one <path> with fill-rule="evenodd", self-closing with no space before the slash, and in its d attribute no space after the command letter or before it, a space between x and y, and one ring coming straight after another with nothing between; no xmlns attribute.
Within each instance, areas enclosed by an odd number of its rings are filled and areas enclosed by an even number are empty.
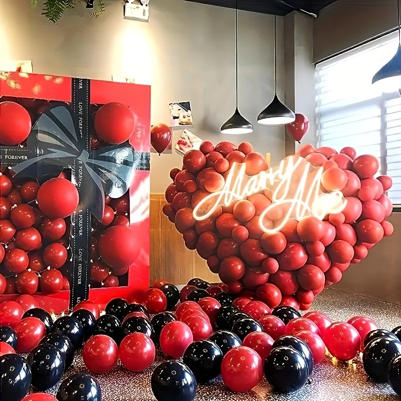
<svg viewBox="0 0 401 401"><path fill-rule="evenodd" d="M304 356L296 349L278 347L266 358L265 376L275 391L288 393L306 383L309 369Z"/></svg>

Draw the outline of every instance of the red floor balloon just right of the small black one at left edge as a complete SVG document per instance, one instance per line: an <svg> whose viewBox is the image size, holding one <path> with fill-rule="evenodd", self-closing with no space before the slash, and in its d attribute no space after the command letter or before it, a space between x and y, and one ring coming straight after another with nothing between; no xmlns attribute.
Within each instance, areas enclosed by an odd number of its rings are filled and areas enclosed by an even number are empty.
<svg viewBox="0 0 401 401"><path fill-rule="evenodd" d="M37 317L26 317L15 327L17 333L17 352L31 352L46 335L46 326Z"/></svg>

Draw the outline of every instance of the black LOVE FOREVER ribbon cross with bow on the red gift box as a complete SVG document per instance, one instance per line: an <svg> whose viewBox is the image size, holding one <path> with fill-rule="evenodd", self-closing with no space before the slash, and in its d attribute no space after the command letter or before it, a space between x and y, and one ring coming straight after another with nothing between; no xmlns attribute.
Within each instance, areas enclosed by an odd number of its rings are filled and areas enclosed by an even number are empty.
<svg viewBox="0 0 401 401"><path fill-rule="evenodd" d="M149 170L149 153L124 143L90 150L90 80L72 79L71 107L54 102L33 126L27 148L2 147L2 162L14 165L16 175L43 183L71 168L79 206L71 218L72 271L70 308L88 299L91 214L102 220L105 194L122 196L134 170Z"/></svg>

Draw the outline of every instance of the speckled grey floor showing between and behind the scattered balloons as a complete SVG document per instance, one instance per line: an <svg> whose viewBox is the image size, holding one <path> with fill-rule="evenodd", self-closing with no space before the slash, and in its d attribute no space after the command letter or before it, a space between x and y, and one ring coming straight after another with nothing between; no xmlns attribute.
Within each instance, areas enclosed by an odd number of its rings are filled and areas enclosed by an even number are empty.
<svg viewBox="0 0 401 401"><path fill-rule="evenodd" d="M401 305L394 305L370 298L347 294L334 289L325 290L314 303L315 310L321 310L335 320L348 320L354 315L367 315L379 326L386 329L401 324ZM152 401L150 376L162 361L159 353L154 364L143 373L132 373L120 363L107 374L94 374L102 388L102 401ZM333 366L331 360L314 368L310 383L289 395L271 391L264 380L254 390L247 393L233 393L221 379L209 385L199 385L196 401L395 401L397 396L387 384L368 381L359 358L355 367L339 363ZM65 373L86 370L82 358L77 357L73 366ZM57 388L52 392L56 392Z"/></svg>

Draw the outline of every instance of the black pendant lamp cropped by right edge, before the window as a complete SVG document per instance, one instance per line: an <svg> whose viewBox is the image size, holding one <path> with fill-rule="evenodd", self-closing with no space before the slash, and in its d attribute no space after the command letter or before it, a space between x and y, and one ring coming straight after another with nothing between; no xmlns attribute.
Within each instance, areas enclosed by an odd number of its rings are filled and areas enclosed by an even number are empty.
<svg viewBox="0 0 401 401"><path fill-rule="evenodd" d="M401 88L401 14L398 9L398 49L395 56L373 76L372 84L379 82L385 92L395 92Z"/></svg>

